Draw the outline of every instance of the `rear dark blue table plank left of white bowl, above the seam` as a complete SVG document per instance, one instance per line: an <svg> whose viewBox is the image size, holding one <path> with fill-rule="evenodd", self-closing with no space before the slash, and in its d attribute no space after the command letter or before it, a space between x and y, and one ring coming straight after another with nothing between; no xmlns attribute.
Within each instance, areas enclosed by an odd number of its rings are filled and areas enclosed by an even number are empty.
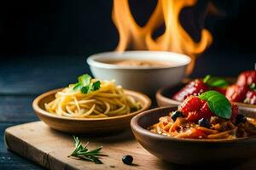
<svg viewBox="0 0 256 170"><path fill-rule="evenodd" d="M89 56L86 54L85 56ZM41 94L90 73L85 56L20 56L0 63L0 94Z"/></svg>

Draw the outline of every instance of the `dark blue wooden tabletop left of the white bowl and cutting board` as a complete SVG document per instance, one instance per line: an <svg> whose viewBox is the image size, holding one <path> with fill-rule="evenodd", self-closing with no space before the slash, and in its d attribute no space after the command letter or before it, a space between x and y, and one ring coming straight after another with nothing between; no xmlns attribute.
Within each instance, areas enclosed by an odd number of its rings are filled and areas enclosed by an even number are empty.
<svg viewBox="0 0 256 170"><path fill-rule="evenodd" d="M32 100L44 91L76 82L84 72L89 72L84 56L23 56L0 61L0 169L43 169L6 150L4 130L37 121Z"/></svg>

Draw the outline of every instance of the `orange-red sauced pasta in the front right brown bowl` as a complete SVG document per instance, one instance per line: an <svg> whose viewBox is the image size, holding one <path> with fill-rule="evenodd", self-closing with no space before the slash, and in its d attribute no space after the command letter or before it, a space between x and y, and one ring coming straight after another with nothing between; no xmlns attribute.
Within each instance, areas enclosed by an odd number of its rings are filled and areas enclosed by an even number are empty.
<svg viewBox="0 0 256 170"><path fill-rule="evenodd" d="M172 112L169 116L160 117L159 122L148 129L153 133L182 139L236 139L256 135L253 118L247 118L247 122L235 125L230 120L212 116L211 127L201 127L183 117L178 117L176 121L173 121L171 116Z"/></svg>

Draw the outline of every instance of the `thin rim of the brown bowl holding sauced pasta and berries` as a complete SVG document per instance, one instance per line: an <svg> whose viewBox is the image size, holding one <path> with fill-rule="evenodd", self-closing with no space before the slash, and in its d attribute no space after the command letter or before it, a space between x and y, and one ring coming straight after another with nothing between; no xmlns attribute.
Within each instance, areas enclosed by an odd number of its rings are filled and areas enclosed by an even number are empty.
<svg viewBox="0 0 256 170"><path fill-rule="evenodd" d="M148 129L145 129L138 124L138 120L143 116L147 116L148 114L150 114L154 111L160 111L160 110L166 110L166 109L172 109L172 108L177 108L177 106L158 107L158 108L154 108L154 109L151 109L148 111L143 111L142 113L139 113L137 116L134 116L131 119L132 131L136 131L137 133L141 133L144 136L148 136L151 138L163 139L163 140L167 140L167 141L178 141L178 142L183 142L183 143L239 143L239 142L243 142L245 140L255 140L256 141L256 135L247 137L247 138L238 138L238 139L178 139L178 138L174 138L171 136L165 136L165 135L161 135L158 133L152 133Z"/></svg>

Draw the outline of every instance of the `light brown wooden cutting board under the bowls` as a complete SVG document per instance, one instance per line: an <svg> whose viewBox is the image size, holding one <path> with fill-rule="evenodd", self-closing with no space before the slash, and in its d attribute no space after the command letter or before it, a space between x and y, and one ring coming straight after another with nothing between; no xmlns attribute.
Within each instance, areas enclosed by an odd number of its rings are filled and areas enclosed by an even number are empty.
<svg viewBox="0 0 256 170"><path fill-rule="evenodd" d="M5 142L9 150L35 161L48 169L190 169L160 161L137 143L130 130L108 136L80 136L89 149L103 146L103 164L67 157L73 151L73 135L57 132L44 122L30 122L5 130ZM134 165L125 165L122 157L131 155ZM255 159L232 169L255 169Z"/></svg>

